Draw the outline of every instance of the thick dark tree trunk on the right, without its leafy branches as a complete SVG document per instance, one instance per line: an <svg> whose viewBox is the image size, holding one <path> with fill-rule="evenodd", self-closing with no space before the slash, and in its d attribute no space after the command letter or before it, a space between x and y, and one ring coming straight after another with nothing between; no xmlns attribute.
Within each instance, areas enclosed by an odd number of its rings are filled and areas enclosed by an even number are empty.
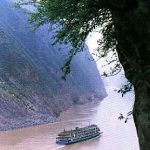
<svg viewBox="0 0 150 150"><path fill-rule="evenodd" d="M133 117L140 150L150 150L150 2L139 0L130 11L111 11L117 53L134 85Z"/></svg>

